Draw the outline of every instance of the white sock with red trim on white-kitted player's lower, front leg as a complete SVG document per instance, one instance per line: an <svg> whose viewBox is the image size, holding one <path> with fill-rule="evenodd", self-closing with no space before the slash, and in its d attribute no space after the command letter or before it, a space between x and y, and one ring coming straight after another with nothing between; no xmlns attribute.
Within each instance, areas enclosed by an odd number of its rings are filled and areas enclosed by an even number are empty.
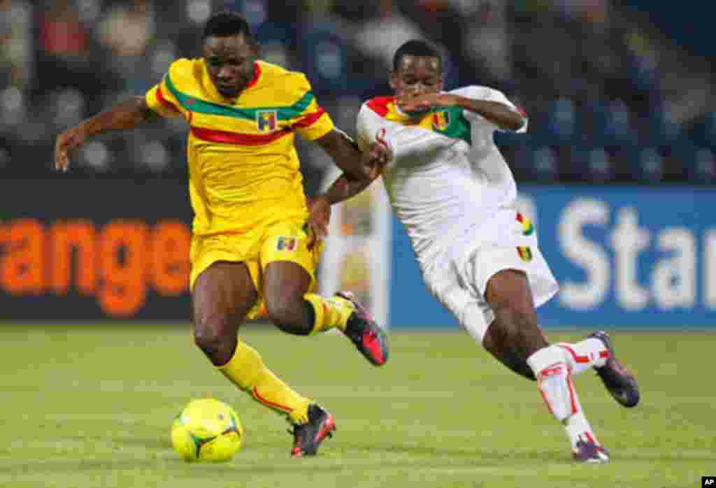
<svg viewBox="0 0 716 488"><path fill-rule="evenodd" d="M527 358L527 363L537 378L547 408L563 424L572 450L576 451L580 439L597 442L581 409L563 348L556 345L541 348Z"/></svg>

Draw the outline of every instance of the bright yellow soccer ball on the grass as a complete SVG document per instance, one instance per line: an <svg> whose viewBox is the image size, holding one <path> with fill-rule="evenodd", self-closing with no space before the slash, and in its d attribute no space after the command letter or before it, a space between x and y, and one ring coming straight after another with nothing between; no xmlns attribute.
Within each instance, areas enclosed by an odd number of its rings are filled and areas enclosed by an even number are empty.
<svg viewBox="0 0 716 488"><path fill-rule="evenodd" d="M215 400L192 400L174 420L174 450L188 462L224 462L241 449L243 427L231 406Z"/></svg>

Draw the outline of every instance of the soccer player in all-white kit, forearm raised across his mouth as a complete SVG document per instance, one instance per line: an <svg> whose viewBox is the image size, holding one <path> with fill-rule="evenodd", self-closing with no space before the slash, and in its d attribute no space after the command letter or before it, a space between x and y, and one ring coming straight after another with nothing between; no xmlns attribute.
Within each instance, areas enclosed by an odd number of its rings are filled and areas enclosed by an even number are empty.
<svg viewBox="0 0 716 488"><path fill-rule="evenodd" d="M496 89L442 91L440 55L422 41L395 52L390 86L395 96L362 105L358 142L379 142L390 154L384 185L425 285L498 361L537 381L574 459L609 461L572 376L596 370L627 407L639 401L637 381L614 358L604 331L578 343L549 343L538 326L535 307L558 284L530 220L515 210L516 183L493 142L495 130L526 132L526 116ZM339 177L314 200L314 223L325 230L330 205L360 189Z"/></svg>

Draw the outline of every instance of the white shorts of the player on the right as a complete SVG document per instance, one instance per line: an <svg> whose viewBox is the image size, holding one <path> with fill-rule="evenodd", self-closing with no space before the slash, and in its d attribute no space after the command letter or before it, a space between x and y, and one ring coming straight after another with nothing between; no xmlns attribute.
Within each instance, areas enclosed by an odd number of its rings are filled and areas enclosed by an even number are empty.
<svg viewBox="0 0 716 488"><path fill-rule="evenodd" d="M423 271L425 286L480 343L495 319L492 308L485 301L485 288L495 273L507 269L523 270L535 306L546 303L559 289L536 245L519 249L487 245L476 248L465 258L446 253L439 261Z"/></svg>

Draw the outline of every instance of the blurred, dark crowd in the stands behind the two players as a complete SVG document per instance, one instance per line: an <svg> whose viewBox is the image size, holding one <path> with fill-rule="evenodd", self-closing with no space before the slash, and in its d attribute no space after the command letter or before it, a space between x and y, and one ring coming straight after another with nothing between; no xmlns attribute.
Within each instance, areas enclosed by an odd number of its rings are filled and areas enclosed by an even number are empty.
<svg viewBox="0 0 716 488"><path fill-rule="evenodd" d="M390 94L395 49L422 38L447 89L486 84L526 109L529 135L495 136L518 182L716 182L713 58L610 0L0 0L0 177L50 177L59 132L200 56L221 9L243 12L263 59L305 72L349 134L364 99ZM70 176L184 178L186 132L97 137ZM299 152L311 195L330 161Z"/></svg>

